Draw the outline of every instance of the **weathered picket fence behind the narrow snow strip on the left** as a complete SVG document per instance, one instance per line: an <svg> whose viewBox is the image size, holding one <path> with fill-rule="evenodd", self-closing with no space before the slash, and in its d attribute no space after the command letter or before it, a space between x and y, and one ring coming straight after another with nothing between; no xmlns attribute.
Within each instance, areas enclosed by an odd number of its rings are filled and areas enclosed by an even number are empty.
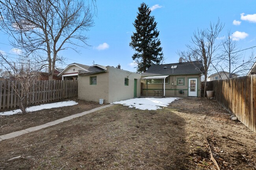
<svg viewBox="0 0 256 170"><path fill-rule="evenodd" d="M19 98L14 94L13 84L20 89L18 81L0 81L0 110L19 106ZM38 80L33 82L27 103L47 103L77 96L77 80Z"/></svg>

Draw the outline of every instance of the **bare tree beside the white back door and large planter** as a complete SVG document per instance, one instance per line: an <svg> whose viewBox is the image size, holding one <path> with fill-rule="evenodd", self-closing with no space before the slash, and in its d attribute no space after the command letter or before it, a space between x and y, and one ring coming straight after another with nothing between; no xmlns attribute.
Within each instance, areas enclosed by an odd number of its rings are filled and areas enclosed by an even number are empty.
<svg viewBox="0 0 256 170"><path fill-rule="evenodd" d="M177 52L180 57L189 62L202 60L204 64L204 71L202 71L204 75L204 97L206 97L206 82L210 64L213 58L217 56L216 52L220 46L215 40L222 29L223 24L220 23L219 19L217 23L210 22L208 29L198 29L195 31L193 37L191 37L192 45L186 45L188 51Z"/></svg>

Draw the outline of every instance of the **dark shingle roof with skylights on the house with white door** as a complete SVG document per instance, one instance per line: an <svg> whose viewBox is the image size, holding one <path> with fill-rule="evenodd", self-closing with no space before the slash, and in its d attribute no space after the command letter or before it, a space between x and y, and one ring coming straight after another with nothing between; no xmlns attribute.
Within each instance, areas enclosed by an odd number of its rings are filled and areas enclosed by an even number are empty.
<svg viewBox="0 0 256 170"><path fill-rule="evenodd" d="M172 66L177 66L177 68L171 68ZM202 74L203 64L202 61L191 62L181 62L181 63L171 63L171 64L160 64L152 65L148 68L145 73L141 76L157 76L157 75L192 75L192 74Z"/></svg>

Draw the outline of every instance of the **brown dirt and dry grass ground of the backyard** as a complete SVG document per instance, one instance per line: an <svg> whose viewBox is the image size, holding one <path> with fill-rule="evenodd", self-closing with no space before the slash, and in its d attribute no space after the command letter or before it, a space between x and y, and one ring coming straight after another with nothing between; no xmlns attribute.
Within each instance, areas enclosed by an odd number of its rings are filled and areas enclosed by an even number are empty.
<svg viewBox="0 0 256 170"><path fill-rule="evenodd" d="M38 111L37 115L83 112L77 106ZM20 122L26 117L15 116L0 117L0 126L7 119ZM1 141L0 170L215 170L208 143L221 170L256 169L256 133L231 121L213 100L184 98L156 111L115 105Z"/></svg>

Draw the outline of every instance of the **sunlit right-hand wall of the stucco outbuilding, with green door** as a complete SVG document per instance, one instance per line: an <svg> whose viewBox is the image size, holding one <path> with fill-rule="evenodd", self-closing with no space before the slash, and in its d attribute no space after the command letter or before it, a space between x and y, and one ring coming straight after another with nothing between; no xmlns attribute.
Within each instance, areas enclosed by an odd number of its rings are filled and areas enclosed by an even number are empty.
<svg viewBox="0 0 256 170"><path fill-rule="evenodd" d="M109 71L109 102L134 98L134 79L137 79L137 97L140 97L141 75L130 71L107 67ZM124 85L124 79L129 77L129 85Z"/></svg>

